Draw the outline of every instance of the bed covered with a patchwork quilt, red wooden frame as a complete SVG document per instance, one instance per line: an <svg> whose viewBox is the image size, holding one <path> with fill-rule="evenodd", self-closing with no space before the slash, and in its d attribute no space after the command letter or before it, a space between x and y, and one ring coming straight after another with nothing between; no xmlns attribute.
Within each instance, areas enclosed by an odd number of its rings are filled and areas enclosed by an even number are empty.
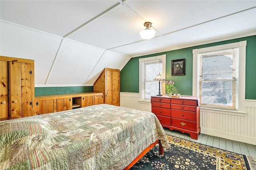
<svg viewBox="0 0 256 170"><path fill-rule="evenodd" d="M128 169L158 141L153 113L108 104L0 121L0 169Z"/></svg>

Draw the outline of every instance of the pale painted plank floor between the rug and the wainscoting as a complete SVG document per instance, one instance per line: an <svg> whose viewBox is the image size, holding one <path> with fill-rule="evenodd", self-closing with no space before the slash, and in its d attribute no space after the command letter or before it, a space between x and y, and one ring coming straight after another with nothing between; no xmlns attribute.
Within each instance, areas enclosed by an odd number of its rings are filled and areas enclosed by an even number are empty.
<svg viewBox="0 0 256 170"><path fill-rule="evenodd" d="M189 141L194 141L194 142L208 145L211 147L228 150L230 152L235 152L238 154L252 155L254 156L254 158L256 158L256 145L251 145L248 143L242 143L238 141L231 141L229 139L214 137L214 136L205 135L205 134L200 134L198 136L198 140L195 140L195 139L191 139L190 135L188 135L187 133L182 133L176 130L171 131L170 129L165 127L164 127L164 131L167 135L180 137L183 139L187 139Z"/></svg>

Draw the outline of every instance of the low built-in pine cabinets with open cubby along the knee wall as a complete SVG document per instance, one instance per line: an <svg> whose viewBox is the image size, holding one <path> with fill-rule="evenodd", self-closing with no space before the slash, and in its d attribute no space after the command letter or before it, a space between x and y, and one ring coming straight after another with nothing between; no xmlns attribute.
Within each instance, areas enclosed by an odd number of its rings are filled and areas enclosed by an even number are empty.
<svg viewBox="0 0 256 170"><path fill-rule="evenodd" d="M96 92L35 96L35 114L52 113L103 104L103 94Z"/></svg>

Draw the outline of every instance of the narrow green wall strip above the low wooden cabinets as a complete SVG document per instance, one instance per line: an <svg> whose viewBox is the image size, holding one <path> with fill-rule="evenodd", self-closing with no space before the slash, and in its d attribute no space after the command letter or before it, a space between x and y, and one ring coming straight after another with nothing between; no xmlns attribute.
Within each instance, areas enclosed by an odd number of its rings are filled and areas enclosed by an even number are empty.
<svg viewBox="0 0 256 170"><path fill-rule="evenodd" d="M93 86L35 87L35 96L93 92Z"/></svg>

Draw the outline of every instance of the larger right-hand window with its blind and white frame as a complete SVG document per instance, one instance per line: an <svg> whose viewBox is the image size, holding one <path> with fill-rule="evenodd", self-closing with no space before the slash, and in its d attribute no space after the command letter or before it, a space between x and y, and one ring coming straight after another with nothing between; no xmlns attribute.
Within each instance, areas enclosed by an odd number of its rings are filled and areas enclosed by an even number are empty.
<svg viewBox="0 0 256 170"><path fill-rule="evenodd" d="M193 50L193 68L198 68L197 74L193 69L193 95L200 97L200 106L238 111L239 100L244 100L245 45L241 41Z"/></svg>

